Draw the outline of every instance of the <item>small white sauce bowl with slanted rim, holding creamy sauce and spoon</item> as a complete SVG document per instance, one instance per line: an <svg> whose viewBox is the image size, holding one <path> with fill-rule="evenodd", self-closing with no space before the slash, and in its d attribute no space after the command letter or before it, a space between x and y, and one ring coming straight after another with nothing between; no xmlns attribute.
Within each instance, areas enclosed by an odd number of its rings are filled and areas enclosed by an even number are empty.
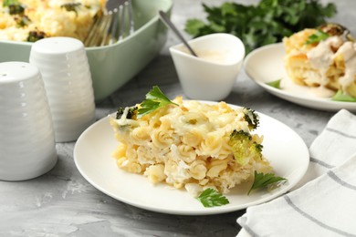
<svg viewBox="0 0 356 237"><path fill-rule="evenodd" d="M222 100L233 88L245 57L245 46L233 35L218 33L190 40L198 57L183 45L170 52L185 96L192 99Z"/></svg>

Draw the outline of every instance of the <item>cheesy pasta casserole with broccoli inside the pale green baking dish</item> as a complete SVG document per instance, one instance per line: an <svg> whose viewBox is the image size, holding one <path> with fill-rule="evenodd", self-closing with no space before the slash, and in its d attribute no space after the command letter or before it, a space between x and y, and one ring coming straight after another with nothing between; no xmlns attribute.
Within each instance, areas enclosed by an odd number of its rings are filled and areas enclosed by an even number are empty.
<svg viewBox="0 0 356 237"><path fill-rule="evenodd" d="M43 37L84 40L105 0L2 0L0 40L35 42Z"/></svg>

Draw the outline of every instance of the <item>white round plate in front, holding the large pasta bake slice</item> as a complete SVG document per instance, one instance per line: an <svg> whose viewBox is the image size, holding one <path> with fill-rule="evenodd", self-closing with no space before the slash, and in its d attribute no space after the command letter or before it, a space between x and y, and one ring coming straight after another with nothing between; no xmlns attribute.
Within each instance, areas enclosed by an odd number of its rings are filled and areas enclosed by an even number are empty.
<svg viewBox="0 0 356 237"><path fill-rule="evenodd" d="M236 106L232 106L236 108ZM296 132L274 118L260 115L258 134L263 134L263 152L278 176L288 182L275 191L254 191L246 195L251 183L231 191L229 204L204 208L187 191L175 190L166 184L152 185L147 178L120 170L111 153L118 145L109 118L102 118L79 137L74 148L74 160L83 177L110 197L133 206L163 213L206 215L237 211L270 201L290 190L309 166L309 150Z"/></svg>

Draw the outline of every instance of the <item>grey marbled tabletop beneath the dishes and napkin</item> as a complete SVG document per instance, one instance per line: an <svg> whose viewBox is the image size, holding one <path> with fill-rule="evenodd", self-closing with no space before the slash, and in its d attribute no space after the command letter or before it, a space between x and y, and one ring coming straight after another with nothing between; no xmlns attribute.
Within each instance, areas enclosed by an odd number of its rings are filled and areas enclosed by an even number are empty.
<svg viewBox="0 0 356 237"><path fill-rule="evenodd" d="M220 5L222 0L175 0L172 20L183 30L186 19L203 18L202 2ZM248 4L257 1L236 1ZM327 1L321 1L323 3ZM356 35L356 1L335 1L333 21L349 26ZM189 36L185 35L187 38ZM118 107L140 102L152 85L170 97L183 95L168 47L178 43L169 33L161 54L139 75L97 104L97 118ZM333 112L300 107L259 88L244 72L225 99L254 108L287 124L309 146ZM34 180L0 181L0 236L236 236L236 219L245 210L218 215L180 216L141 210L114 200L85 180L73 161L75 143L58 143L58 164Z"/></svg>

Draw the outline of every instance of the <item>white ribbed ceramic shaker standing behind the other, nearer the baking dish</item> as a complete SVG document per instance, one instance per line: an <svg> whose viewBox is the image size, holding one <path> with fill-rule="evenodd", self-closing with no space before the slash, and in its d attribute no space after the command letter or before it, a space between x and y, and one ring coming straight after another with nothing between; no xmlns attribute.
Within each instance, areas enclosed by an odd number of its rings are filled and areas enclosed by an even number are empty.
<svg viewBox="0 0 356 237"><path fill-rule="evenodd" d="M84 45L71 37L38 40L30 64L42 74L57 142L74 141L95 120L95 102Z"/></svg>

